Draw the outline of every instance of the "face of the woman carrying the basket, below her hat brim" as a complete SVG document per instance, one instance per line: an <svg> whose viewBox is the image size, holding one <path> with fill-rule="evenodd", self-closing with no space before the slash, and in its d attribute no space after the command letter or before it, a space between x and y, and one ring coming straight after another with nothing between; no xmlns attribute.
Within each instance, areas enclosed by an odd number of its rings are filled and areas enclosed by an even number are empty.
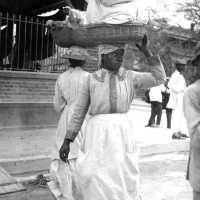
<svg viewBox="0 0 200 200"><path fill-rule="evenodd" d="M123 56L123 48L101 54L101 67L110 71L118 71L122 65Z"/></svg>

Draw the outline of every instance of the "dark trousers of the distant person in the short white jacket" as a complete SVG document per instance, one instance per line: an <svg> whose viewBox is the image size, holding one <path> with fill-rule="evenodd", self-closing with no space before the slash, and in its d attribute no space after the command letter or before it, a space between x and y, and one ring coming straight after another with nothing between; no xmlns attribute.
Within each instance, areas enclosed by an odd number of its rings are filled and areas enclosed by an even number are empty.
<svg viewBox="0 0 200 200"><path fill-rule="evenodd" d="M155 124L155 118L156 118L156 124L160 125L161 117L162 117L162 103L157 101L151 101L151 116L148 125Z"/></svg>

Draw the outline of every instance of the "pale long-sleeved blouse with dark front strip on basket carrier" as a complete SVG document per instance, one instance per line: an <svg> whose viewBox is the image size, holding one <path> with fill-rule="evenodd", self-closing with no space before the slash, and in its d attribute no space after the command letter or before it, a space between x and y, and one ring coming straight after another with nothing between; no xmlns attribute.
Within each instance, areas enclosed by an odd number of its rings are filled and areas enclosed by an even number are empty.
<svg viewBox="0 0 200 200"><path fill-rule="evenodd" d="M150 72L136 72L121 68L118 73L100 69L90 74L83 84L71 116L66 137L74 140L85 115L127 113L135 91L165 82L164 68L157 56L148 58Z"/></svg>

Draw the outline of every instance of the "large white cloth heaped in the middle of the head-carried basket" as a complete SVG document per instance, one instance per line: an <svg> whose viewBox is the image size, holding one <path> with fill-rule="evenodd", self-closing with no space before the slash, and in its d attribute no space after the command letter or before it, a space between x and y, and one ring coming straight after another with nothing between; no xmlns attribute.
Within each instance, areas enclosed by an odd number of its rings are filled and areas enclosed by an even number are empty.
<svg viewBox="0 0 200 200"><path fill-rule="evenodd" d="M104 6L101 0L87 0L87 23L123 24L138 19L138 6L136 1L118 3L112 6Z"/></svg>

